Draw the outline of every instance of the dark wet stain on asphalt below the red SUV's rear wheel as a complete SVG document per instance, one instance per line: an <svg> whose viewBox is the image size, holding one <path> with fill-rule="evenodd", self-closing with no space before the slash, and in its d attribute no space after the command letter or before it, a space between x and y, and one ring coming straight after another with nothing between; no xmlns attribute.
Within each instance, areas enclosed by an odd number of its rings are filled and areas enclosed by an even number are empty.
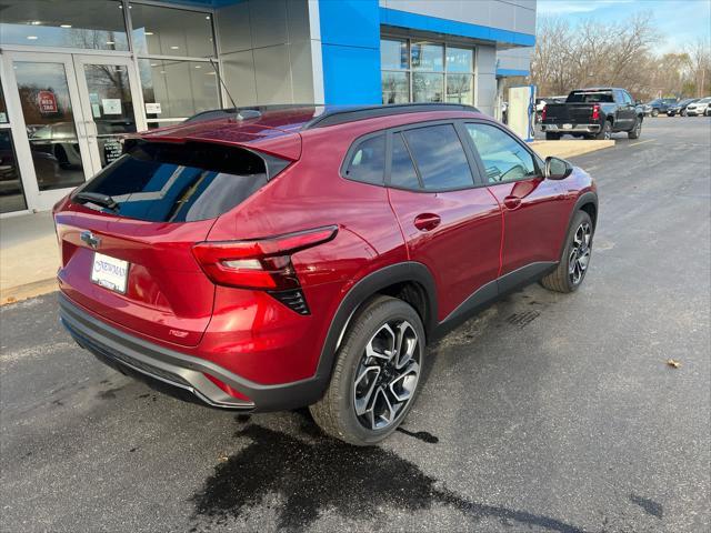
<svg viewBox="0 0 711 533"><path fill-rule="evenodd" d="M239 521L274 494L283 501L278 527L291 531L308 529L326 510L350 520L374 519L381 529L391 519L383 506L412 513L435 505L457 509L473 523L493 517L510 526L583 531L550 516L468 501L395 453L330 439L307 418L301 423L306 439L254 424L246 415L237 422L234 436L250 443L219 463L191 497L193 532Z"/></svg>

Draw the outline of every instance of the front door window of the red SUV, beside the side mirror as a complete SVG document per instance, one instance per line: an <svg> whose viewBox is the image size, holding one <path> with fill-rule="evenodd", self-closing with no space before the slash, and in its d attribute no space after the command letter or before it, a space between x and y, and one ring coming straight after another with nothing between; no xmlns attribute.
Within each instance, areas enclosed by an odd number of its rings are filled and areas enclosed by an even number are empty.
<svg viewBox="0 0 711 533"><path fill-rule="evenodd" d="M538 175L533 157L511 135L488 124L467 124L490 183Z"/></svg>

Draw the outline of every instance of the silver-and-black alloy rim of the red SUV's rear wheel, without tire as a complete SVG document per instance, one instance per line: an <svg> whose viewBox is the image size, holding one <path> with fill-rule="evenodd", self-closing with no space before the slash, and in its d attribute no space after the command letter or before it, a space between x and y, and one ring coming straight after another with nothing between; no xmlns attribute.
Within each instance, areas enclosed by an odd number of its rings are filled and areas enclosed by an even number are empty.
<svg viewBox="0 0 711 533"><path fill-rule="evenodd" d="M420 339L407 320L385 322L368 341L353 381L353 409L367 430L392 425L420 378Z"/></svg>

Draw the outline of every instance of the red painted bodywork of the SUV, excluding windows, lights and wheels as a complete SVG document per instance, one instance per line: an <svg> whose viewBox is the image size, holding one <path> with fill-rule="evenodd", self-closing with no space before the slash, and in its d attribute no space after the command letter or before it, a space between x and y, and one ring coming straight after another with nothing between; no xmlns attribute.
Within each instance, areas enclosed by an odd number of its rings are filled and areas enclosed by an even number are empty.
<svg viewBox="0 0 711 533"><path fill-rule="evenodd" d="M54 209L62 251L62 293L91 316L246 382L278 385L313 379L337 312L369 274L420 263L435 286L443 322L477 290L532 262L555 262L578 198L594 192L588 174L542 178L448 192L413 192L344 179L341 164L359 137L428 120L471 119L465 111L412 112L302 129L313 108L218 118L140 135L147 141L209 141L289 161L286 170L217 219L146 222L98 212L68 198ZM512 198L518 201L511 201ZM433 213L431 231L415 225ZM191 253L202 241L269 238L337 224L337 237L291 257L310 314L298 314L262 290L216 285ZM131 263L126 294L90 281L93 251ZM211 380L236 398L248 398ZM259 405L258 405L259 406Z"/></svg>

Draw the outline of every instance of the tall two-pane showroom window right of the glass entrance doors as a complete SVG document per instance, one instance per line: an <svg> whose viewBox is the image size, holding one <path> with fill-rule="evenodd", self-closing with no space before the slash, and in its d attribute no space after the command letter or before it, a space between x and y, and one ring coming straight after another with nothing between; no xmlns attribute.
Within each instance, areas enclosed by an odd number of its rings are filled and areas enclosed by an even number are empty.
<svg viewBox="0 0 711 533"><path fill-rule="evenodd" d="M130 13L148 127L220 108L212 14L138 2Z"/></svg>

